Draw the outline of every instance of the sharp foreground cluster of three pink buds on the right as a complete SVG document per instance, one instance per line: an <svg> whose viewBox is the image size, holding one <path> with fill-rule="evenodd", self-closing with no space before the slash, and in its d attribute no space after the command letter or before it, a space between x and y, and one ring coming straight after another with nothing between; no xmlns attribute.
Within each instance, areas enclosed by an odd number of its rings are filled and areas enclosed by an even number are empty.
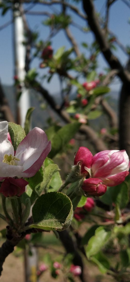
<svg viewBox="0 0 130 282"><path fill-rule="evenodd" d="M130 162L125 150L106 150L92 156L86 147L80 147L74 165L80 164L85 175L82 189L90 196L102 196L107 186L121 184L129 174Z"/></svg>

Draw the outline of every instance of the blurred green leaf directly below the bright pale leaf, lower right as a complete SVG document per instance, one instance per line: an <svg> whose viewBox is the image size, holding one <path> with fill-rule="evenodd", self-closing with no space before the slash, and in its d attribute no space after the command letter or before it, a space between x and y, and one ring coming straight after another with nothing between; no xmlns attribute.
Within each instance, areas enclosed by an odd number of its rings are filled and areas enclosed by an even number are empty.
<svg viewBox="0 0 130 282"><path fill-rule="evenodd" d="M109 261L107 260L107 257L102 252L99 252L98 254L94 255L94 257L91 257L91 261L96 263L98 265L99 270L105 274L107 270L110 268Z"/></svg>

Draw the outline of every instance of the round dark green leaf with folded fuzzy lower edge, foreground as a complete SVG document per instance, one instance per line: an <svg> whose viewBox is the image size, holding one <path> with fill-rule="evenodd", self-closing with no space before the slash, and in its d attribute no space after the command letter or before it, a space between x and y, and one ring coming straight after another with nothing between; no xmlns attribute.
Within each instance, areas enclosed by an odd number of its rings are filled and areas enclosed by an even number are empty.
<svg viewBox="0 0 130 282"><path fill-rule="evenodd" d="M67 228L73 217L73 207L67 195L50 192L41 195L32 208L33 224L30 228L59 230Z"/></svg>

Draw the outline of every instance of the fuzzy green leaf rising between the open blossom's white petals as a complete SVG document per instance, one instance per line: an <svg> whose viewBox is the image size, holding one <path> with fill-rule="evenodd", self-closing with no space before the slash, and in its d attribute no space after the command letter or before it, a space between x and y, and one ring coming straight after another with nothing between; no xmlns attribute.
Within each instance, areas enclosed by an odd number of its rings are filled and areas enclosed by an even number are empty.
<svg viewBox="0 0 130 282"><path fill-rule="evenodd" d="M26 134L19 124L15 124L14 122L8 122L8 131L10 133L12 145L14 147L14 151L16 151L19 143L25 138Z"/></svg>

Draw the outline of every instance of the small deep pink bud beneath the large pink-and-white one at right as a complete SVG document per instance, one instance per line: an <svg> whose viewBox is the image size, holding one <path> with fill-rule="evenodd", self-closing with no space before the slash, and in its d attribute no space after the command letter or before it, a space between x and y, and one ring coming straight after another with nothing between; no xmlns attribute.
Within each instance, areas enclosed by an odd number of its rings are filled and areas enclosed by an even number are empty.
<svg viewBox="0 0 130 282"><path fill-rule="evenodd" d="M107 186L102 183L101 179L89 178L85 179L82 184L82 189L91 196L102 196L107 191Z"/></svg>

